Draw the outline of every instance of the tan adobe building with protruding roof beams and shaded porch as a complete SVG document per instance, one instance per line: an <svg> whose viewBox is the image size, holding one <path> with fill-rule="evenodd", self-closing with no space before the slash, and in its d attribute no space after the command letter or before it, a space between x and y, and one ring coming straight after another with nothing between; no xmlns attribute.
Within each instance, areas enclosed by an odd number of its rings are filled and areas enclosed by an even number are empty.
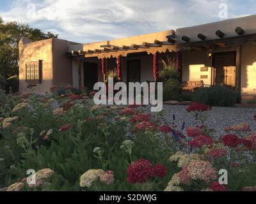
<svg viewBox="0 0 256 204"><path fill-rule="evenodd" d="M19 43L20 92L36 84L36 92L53 85L93 89L111 69L118 80L152 82L160 59L180 64L184 82L228 85L244 99L256 96L256 15L184 27L176 31L79 44L49 39Z"/></svg>

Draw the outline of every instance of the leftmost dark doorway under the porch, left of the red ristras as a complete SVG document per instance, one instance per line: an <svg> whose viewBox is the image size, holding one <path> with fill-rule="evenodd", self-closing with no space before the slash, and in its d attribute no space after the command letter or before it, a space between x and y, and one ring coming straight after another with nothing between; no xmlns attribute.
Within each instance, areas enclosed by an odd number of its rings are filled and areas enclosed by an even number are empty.
<svg viewBox="0 0 256 204"><path fill-rule="evenodd" d="M93 62L84 62L84 86L93 90L98 82L98 64Z"/></svg>

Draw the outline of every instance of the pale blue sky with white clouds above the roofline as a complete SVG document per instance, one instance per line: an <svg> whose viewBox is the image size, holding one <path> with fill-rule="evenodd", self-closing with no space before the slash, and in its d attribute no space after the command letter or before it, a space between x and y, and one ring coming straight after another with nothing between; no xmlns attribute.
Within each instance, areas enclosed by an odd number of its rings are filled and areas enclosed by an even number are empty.
<svg viewBox="0 0 256 204"><path fill-rule="evenodd" d="M255 0L0 0L0 17L89 43L256 14Z"/></svg>

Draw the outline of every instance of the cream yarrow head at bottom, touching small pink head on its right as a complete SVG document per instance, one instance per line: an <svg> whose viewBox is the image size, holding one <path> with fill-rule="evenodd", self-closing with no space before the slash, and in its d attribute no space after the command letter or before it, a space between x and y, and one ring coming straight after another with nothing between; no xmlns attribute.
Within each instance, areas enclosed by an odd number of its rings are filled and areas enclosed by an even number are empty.
<svg viewBox="0 0 256 204"><path fill-rule="evenodd" d="M103 170L88 170L80 178L80 187L91 187L95 180L104 175Z"/></svg>

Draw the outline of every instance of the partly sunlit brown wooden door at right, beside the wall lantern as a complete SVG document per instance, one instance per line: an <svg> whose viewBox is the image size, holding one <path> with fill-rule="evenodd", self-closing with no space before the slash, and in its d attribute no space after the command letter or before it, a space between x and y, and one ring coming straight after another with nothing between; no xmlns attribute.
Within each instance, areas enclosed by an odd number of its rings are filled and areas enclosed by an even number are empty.
<svg viewBox="0 0 256 204"><path fill-rule="evenodd" d="M236 52L219 52L213 55L215 85L236 87Z"/></svg>

